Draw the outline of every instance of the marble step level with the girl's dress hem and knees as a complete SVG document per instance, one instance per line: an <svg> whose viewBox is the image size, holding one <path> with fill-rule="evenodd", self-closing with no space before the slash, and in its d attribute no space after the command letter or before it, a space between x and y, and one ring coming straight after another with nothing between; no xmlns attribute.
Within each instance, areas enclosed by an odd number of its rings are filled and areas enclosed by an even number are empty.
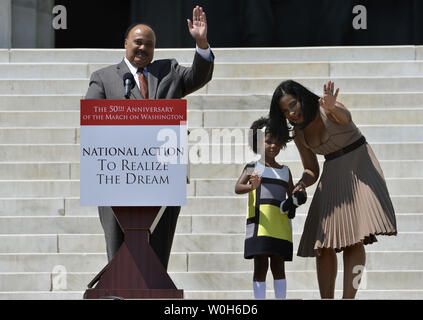
<svg viewBox="0 0 423 320"><path fill-rule="evenodd" d="M371 248L369 249L371 250ZM98 272L107 264L104 253L21 253L0 254L0 272ZM366 270L423 270L422 251L366 251ZM169 259L171 272L230 272L251 271L252 259L244 259L243 252L173 252ZM314 258L299 258L285 263L285 270L316 270ZM343 270L339 255L338 270ZM269 271L270 272L270 271Z"/></svg>

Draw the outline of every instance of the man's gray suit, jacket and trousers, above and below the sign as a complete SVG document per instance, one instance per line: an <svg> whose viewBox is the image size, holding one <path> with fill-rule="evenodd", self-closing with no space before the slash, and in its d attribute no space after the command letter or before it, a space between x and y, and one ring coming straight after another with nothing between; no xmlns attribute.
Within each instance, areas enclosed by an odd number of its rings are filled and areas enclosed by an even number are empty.
<svg viewBox="0 0 423 320"><path fill-rule="evenodd" d="M175 59L165 59L154 61L147 66L147 70L150 99L180 99L211 80L213 62L205 60L196 52L191 67L180 66ZM93 72L85 99L125 99L123 75L127 72L130 71L125 61ZM130 98L142 99L138 86L134 86ZM167 268L179 210L179 207L167 208L166 212L173 214L165 214L162 217L151 238L151 246L165 268ZM110 207L100 207L99 215L110 261L123 241L123 234Z"/></svg>

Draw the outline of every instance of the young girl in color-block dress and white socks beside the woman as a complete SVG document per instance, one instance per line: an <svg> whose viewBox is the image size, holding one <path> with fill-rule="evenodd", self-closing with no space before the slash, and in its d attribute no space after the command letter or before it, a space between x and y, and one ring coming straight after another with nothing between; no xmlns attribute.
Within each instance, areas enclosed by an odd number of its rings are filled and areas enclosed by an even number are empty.
<svg viewBox="0 0 423 320"><path fill-rule="evenodd" d="M250 129L253 132L249 143L256 154L258 144L263 143L260 139L257 143L257 136L264 136L264 157L262 153L258 161L247 164L235 186L235 193L248 193L244 258L254 258L254 297L266 298L266 274L270 258L275 298L285 299L284 262L292 261L293 246L291 221L281 208L294 185L289 168L277 163L275 157L291 138L288 130L272 126L266 118L254 121ZM300 202L305 202L302 195ZM294 202L298 204L298 201ZM295 208L290 209L290 217L293 217Z"/></svg>

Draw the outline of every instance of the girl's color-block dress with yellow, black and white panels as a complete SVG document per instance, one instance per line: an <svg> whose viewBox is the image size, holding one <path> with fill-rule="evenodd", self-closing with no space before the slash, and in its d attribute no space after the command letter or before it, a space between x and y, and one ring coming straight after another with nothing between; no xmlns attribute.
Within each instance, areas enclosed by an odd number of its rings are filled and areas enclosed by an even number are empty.
<svg viewBox="0 0 423 320"><path fill-rule="evenodd" d="M257 171L263 178L259 187L248 193L244 258L263 254L292 261L291 220L279 209L286 198L289 169L265 167L258 161L247 164L246 168L248 174Z"/></svg>

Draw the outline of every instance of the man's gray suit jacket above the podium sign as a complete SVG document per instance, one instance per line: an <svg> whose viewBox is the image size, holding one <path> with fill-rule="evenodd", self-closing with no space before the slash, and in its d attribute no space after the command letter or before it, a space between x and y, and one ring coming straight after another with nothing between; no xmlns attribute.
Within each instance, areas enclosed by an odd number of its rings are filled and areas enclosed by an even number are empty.
<svg viewBox="0 0 423 320"><path fill-rule="evenodd" d="M180 99L200 89L211 80L213 66L197 52L191 67L183 67L175 59L154 61L147 66L149 99ZM127 72L123 60L93 72L85 99L125 99L123 75ZM130 98L142 99L138 86L132 89Z"/></svg>

